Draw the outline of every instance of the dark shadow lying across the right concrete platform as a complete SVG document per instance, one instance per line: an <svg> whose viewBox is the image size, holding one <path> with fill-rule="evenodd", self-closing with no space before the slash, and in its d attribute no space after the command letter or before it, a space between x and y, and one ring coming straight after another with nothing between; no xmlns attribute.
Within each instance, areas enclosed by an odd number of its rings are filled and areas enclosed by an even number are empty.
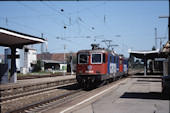
<svg viewBox="0 0 170 113"><path fill-rule="evenodd" d="M168 94L159 92L149 93L126 92L120 98L170 100L170 96Z"/></svg>

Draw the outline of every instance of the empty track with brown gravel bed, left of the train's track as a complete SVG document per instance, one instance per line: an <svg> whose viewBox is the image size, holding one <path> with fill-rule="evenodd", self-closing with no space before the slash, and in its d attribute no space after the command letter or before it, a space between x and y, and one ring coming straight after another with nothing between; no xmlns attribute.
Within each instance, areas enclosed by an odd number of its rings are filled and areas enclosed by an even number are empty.
<svg viewBox="0 0 170 113"><path fill-rule="evenodd" d="M66 84L62 86L49 87L45 89L33 90L8 96L1 96L1 112L6 113L18 109L22 106L41 102L56 96L65 95L80 89L77 84Z"/></svg>

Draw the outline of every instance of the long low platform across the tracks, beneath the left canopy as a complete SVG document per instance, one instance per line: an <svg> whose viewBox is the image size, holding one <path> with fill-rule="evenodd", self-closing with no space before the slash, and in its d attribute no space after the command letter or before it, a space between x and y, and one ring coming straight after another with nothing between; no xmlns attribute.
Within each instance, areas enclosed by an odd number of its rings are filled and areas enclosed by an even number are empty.
<svg viewBox="0 0 170 113"><path fill-rule="evenodd" d="M1 95L7 93L16 93L25 90L34 90L36 88L44 88L48 86L63 85L66 83L76 82L75 75L44 77L36 79L18 80L17 83L0 84Z"/></svg>

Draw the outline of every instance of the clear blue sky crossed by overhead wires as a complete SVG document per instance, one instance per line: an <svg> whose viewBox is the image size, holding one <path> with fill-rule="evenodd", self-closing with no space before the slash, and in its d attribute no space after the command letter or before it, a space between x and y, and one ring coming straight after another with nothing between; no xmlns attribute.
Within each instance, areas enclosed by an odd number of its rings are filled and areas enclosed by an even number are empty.
<svg viewBox="0 0 170 113"><path fill-rule="evenodd" d="M118 45L114 51L126 57L128 49L151 50L155 28L157 37L168 37L168 19L159 16L169 16L168 0L0 2L0 27L37 37L43 33L50 53L63 53L64 46L67 53L91 49L91 44L107 48L102 40L112 40ZM41 53L41 44L31 46Z"/></svg>

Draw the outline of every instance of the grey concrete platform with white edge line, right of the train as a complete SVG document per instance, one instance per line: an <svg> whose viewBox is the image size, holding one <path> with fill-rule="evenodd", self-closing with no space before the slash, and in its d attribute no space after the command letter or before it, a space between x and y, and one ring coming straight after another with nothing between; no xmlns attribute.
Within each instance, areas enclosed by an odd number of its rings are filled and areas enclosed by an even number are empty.
<svg viewBox="0 0 170 113"><path fill-rule="evenodd" d="M162 94L161 76L133 76L113 85L104 95L85 95L81 98L87 101L78 98L46 113L170 113L170 96Z"/></svg>

